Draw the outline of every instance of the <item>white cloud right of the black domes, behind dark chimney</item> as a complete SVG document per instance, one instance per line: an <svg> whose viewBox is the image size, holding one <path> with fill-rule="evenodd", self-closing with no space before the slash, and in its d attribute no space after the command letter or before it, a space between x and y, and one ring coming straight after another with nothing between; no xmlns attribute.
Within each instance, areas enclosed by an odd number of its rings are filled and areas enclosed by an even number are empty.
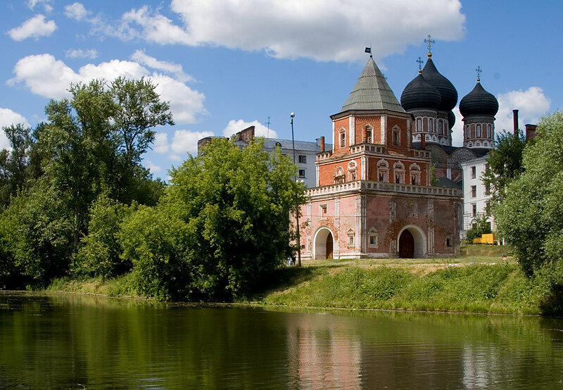
<svg viewBox="0 0 563 390"><path fill-rule="evenodd" d="M519 89L506 94L499 94L497 99L496 134L499 134L502 130L507 132L514 130L512 110L518 110L519 128L524 130L526 123L536 124L545 113L548 113L551 105L550 99L543 94L543 89L540 87L529 87L525 91Z"/></svg>

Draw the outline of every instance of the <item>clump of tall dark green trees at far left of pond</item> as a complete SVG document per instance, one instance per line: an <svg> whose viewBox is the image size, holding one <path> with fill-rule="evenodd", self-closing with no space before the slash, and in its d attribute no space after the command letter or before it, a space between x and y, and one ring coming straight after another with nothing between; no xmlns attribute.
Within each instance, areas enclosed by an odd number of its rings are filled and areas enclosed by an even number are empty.
<svg viewBox="0 0 563 390"><path fill-rule="evenodd" d="M141 165L153 127L173 124L150 81L92 80L71 84L69 92L69 99L49 102L46 122L33 132L4 129L11 143L0 153L6 258L30 284L64 275L71 259L76 270L103 277L126 269L109 225L123 205L156 204L165 187Z"/></svg>

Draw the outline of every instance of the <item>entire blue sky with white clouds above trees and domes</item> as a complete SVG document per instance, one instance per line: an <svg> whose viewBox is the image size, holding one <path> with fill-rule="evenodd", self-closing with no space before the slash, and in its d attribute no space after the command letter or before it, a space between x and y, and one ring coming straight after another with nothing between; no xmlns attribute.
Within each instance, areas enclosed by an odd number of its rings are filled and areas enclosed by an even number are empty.
<svg viewBox="0 0 563 390"><path fill-rule="evenodd" d="M156 129L144 164L166 178L207 135L253 124L291 139L291 112L296 139L330 139L329 115L360 75L365 46L400 99L431 34L434 63L458 102L481 66L481 84L500 103L496 129L512 130L513 108L523 125L563 107L562 8L556 0L3 1L0 125L36 125L70 82L151 77L176 125Z"/></svg>

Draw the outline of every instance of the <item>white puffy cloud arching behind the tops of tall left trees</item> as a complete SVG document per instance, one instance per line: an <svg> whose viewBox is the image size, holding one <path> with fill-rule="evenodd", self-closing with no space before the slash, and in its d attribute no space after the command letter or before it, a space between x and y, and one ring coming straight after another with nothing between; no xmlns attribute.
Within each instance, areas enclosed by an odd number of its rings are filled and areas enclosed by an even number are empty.
<svg viewBox="0 0 563 390"><path fill-rule="evenodd" d="M111 60L94 65L89 63L77 72L51 54L38 54L20 59L13 68L15 76L8 84L23 85L34 94L62 99L68 97L71 82L88 82L92 79L113 80L122 76L128 79L147 77L156 85L161 99L170 101L170 110L177 123L196 122L199 115L207 113L203 106L205 96L183 82L160 73L151 73L133 61Z"/></svg>

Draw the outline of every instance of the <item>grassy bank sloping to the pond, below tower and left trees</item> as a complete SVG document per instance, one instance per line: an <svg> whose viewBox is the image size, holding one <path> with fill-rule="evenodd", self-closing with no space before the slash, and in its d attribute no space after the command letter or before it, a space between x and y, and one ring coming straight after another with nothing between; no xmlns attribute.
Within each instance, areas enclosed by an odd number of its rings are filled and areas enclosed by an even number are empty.
<svg viewBox="0 0 563 390"><path fill-rule="evenodd" d="M296 308L444 310L561 315L563 289L549 275L521 272L507 248L468 246L455 259L372 259L303 262L278 270L258 294L241 302ZM127 275L58 279L51 291L136 296Z"/></svg>

